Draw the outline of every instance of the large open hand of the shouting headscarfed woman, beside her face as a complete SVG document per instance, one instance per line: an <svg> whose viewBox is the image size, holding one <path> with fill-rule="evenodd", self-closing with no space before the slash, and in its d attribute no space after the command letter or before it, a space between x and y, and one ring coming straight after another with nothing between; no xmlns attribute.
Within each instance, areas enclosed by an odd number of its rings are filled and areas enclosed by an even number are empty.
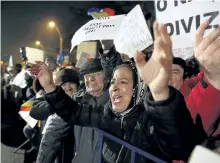
<svg viewBox="0 0 220 163"><path fill-rule="evenodd" d="M148 62L144 54L137 52L135 62L138 71L149 86L155 100L168 98L168 81L172 70L172 42L166 25L154 23L154 51Z"/></svg>

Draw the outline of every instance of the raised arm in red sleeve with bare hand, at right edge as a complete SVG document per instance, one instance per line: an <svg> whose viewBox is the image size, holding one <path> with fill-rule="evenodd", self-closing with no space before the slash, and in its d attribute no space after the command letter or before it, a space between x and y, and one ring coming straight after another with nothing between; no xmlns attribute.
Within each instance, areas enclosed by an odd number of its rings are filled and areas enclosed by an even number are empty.
<svg viewBox="0 0 220 163"><path fill-rule="evenodd" d="M195 123L210 136L220 115L220 27L203 37L208 25L209 21L200 25L194 45L195 58L204 73L185 100ZM216 134L220 134L220 126Z"/></svg>

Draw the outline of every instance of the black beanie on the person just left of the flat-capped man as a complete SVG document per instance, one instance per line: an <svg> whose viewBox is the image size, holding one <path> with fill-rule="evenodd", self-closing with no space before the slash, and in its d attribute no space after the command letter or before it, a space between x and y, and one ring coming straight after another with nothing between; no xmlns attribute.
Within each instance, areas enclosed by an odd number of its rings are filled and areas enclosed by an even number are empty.
<svg viewBox="0 0 220 163"><path fill-rule="evenodd" d="M56 84L62 85L64 83L71 82L79 86L79 74L72 69L61 70L56 77Z"/></svg>

